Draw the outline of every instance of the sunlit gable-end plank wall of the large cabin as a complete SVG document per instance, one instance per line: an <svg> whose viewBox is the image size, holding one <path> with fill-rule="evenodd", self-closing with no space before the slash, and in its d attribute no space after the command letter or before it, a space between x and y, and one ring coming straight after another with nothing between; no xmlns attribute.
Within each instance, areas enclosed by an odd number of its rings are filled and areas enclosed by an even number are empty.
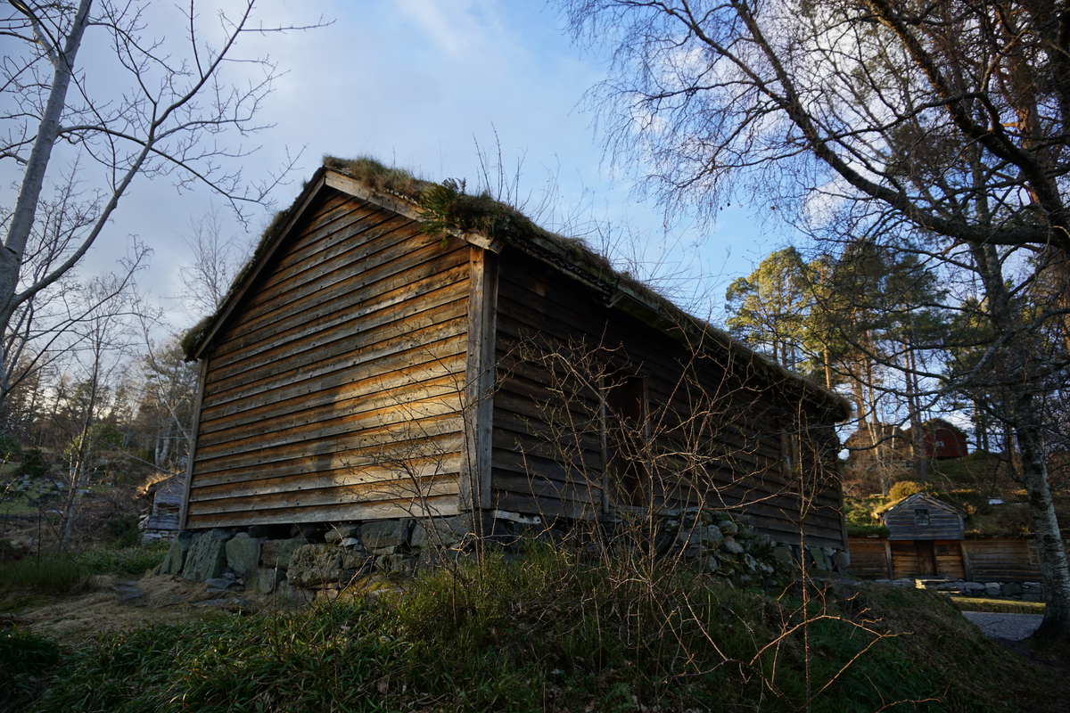
<svg viewBox="0 0 1070 713"><path fill-rule="evenodd" d="M187 527L457 512L470 249L315 200L212 341Z"/></svg>

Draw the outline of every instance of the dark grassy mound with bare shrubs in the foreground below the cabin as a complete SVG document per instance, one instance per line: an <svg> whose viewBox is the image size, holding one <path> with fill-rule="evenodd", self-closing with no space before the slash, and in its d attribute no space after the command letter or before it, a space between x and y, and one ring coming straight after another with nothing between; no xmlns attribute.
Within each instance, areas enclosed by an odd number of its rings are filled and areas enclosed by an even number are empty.
<svg viewBox="0 0 1070 713"><path fill-rule="evenodd" d="M102 637L32 710L1012 711L1052 686L930 592L773 598L538 551L373 603Z"/></svg>

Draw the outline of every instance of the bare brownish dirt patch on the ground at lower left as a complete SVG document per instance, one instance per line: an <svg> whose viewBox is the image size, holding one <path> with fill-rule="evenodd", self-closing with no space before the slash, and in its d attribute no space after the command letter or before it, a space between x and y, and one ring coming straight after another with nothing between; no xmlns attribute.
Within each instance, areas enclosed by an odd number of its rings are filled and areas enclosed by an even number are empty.
<svg viewBox="0 0 1070 713"><path fill-rule="evenodd" d="M194 585L170 575L104 575L93 577L83 593L0 613L0 626L15 624L77 646L102 633L197 621L270 605L255 592L209 592L204 584Z"/></svg>

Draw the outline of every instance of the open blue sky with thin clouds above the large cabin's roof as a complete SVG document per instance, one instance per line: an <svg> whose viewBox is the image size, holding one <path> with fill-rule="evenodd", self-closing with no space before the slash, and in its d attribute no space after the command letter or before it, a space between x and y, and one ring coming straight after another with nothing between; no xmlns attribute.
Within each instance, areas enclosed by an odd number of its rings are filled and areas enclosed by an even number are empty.
<svg viewBox="0 0 1070 713"><path fill-rule="evenodd" d="M276 207L290 203L323 154L372 155L474 187L476 145L496 154L496 134L510 174L522 159L521 197L537 202L548 176L556 176L557 218L547 215L548 228L584 232L591 219L612 226L596 247L630 260L640 277L698 314L717 319L729 281L783 238L777 226L753 218L761 215L755 206L734 205L714 227L685 218L667 229L655 208L636 201L624 177L630 167L603 160L594 115L583 107L584 92L605 74L603 58L572 45L541 0L271 0L260 14L269 24L334 19L308 32L253 35L245 46L270 52L287 71L261 114L274 126L254 137L261 149L244 161L246 176L265 175L287 150L305 152L290 185L275 191ZM87 34L80 59L91 64L94 52L107 51L100 40ZM11 161L2 169L5 187L20 179ZM167 303L188 260L181 235L213 200L204 189L180 195L166 177L140 180L82 273L110 268L137 235L154 250L141 284ZM563 214L578 217L563 227ZM256 218L249 239L266 219ZM188 326L171 304L172 325Z"/></svg>

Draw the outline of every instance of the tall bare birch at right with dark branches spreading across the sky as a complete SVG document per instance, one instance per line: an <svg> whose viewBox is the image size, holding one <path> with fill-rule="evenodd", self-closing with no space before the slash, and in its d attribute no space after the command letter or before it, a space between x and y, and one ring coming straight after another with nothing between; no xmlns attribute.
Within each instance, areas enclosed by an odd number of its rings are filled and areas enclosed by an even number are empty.
<svg viewBox="0 0 1070 713"><path fill-rule="evenodd" d="M914 255L952 307L977 310L990 340L970 369L910 371L945 391L1013 386L989 416L1013 433L1030 493L1043 630L1070 637L1043 408L1070 346L1070 7L563 4L577 37L611 48L609 79L592 93L611 157L638 159L641 185L670 213L712 218L753 197L838 258L862 238Z"/></svg>

